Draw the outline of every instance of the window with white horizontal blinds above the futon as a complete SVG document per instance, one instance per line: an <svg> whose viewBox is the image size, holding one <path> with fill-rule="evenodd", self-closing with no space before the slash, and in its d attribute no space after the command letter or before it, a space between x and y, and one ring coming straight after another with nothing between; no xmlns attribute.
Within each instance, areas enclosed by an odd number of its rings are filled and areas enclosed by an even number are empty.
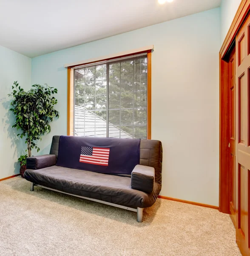
<svg viewBox="0 0 250 256"><path fill-rule="evenodd" d="M148 54L68 68L68 135L150 137Z"/></svg>

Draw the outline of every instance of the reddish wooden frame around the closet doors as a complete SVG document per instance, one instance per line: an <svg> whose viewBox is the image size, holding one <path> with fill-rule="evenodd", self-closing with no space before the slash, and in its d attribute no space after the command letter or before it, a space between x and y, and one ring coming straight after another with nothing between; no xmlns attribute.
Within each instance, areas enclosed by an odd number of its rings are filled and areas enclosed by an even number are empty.
<svg viewBox="0 0 250 256"><path fill-rule="evenodd" d="M219 52L219 211L230 213L228 53L250 10L250 0L241 0Z"/></svg>

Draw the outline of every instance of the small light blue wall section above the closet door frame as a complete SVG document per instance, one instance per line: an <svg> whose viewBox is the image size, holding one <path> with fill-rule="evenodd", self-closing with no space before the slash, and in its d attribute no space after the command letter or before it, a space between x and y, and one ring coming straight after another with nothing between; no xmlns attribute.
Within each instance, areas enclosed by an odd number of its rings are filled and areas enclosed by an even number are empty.
<svg viewBox="0 0 250 256"><path fill-rule="evenodd" d="M239 8L241 0L222 0L221 4L221 44L226 38L234 16Z"/></svg>

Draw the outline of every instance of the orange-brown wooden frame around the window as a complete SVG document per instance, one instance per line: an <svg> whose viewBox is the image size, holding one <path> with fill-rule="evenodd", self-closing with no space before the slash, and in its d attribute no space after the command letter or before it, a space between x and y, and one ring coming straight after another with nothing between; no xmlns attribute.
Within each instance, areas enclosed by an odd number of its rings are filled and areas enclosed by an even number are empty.
<svg viewBox="0 0 250 256"><path fill-rule="evenodd" d="M108 59L101 59L98 61L92 61L92 62L88 62L88 63L84 63L84 65L87 64L93 64L99 61L109 61L112 59L116 59L116 58L122 58L122 57L128 57L128 56L133 56L133 55L137 55L137 54L141 54L141 53L147 53L147 139L151 140L151 72L152 72L152 68L151 68L151 55L152 55L152 50L147 50L147 51L142 51L142 52L133 52L131 54L126 54L126 55L121 55L118 57L114 57L114 58L108 58ZM73 78L73 72L71 72L74 67L78 67L78 66L82 66L82 64L78 64L78 65L74 65L74 66L69 66L67 67L67 88L68 88L68 96L67 96L67 135L71 136L73 134L73 122L74 122L74 114L73 114L73 84L74 83L74 78Z"/></svg>

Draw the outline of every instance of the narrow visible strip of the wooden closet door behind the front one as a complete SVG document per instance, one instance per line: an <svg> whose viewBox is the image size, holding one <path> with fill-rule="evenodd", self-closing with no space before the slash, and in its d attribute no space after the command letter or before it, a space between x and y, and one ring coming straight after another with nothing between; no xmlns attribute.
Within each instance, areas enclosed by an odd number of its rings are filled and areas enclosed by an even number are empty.
<svg viewBox="0 0 250 256"><path fill-rule="evenodd" d="M230 161L230 217L236 227L236 49L233 48L228 63L228 95L229 95L229 161Z"/></svg>

